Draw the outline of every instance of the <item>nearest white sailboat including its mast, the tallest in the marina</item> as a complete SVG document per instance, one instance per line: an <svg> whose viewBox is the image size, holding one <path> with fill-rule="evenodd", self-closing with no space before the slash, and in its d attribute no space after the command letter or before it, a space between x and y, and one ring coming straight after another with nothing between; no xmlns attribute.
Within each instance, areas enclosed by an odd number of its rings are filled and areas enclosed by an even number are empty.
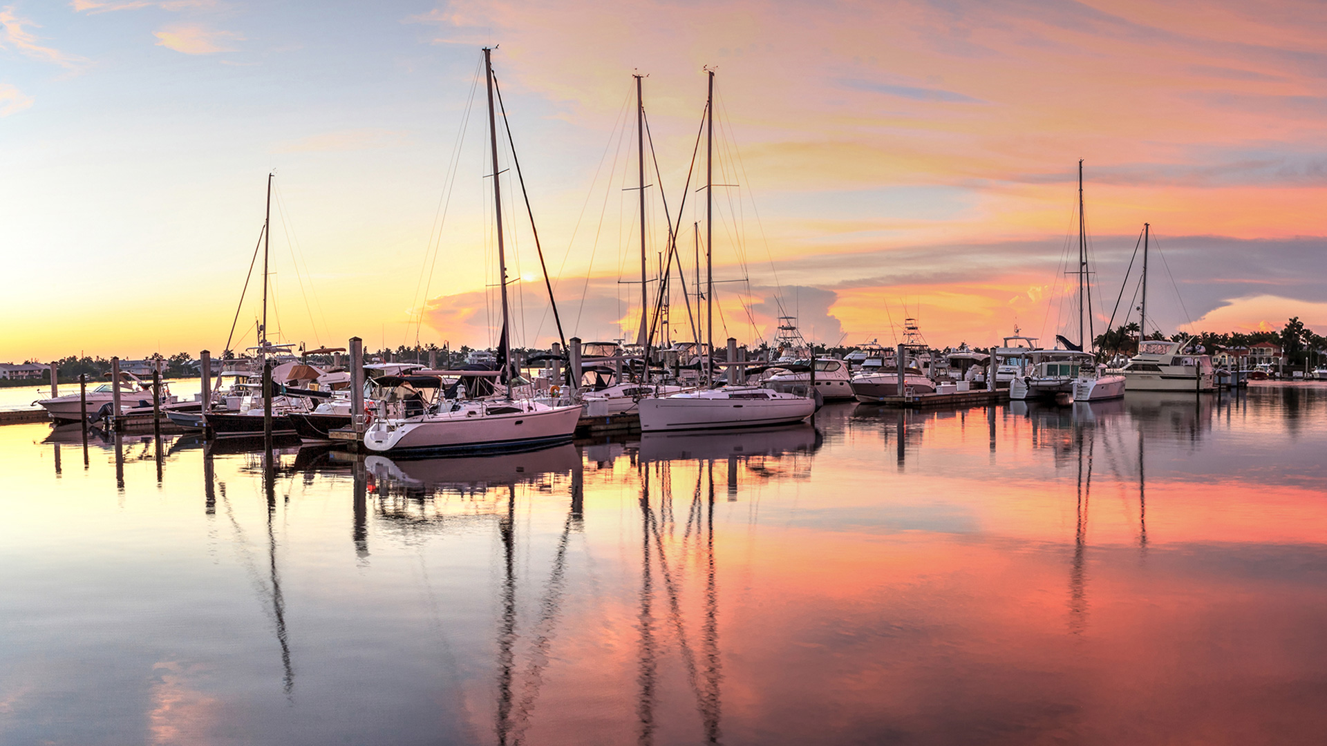
<svg viewBox="0 0 1327 746"><path fill-rule="evenodd" d="M488 88L488 135L492 157L494 219L498 238L498 287L502 295L502 350L511 349L511 305L507 300L507 255L502 226L502 170L498 166L498 121L494 113L492 49L486 46L484 77ZM508 381L515 381L512 356L500 361ZM443 398L422 414L380 417L364 433L364 445L377 453L460 453L533 449L569 441L580 422L581 406L557 406L512 398L512 386L502 400Z"/></svg>

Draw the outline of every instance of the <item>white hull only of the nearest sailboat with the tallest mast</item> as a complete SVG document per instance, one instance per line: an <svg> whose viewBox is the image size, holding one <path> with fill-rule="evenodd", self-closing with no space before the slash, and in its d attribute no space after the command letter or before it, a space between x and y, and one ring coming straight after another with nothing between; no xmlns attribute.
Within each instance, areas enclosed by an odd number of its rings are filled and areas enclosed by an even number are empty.
<svg viewBox="0 0 1327 746"><path fill-rule="evenodd" d="M580 405L547 408L514 404L519 411L468 414L472 409L377 421L364 445L377 453L498 451L569 441L580 422Z"/></svg>

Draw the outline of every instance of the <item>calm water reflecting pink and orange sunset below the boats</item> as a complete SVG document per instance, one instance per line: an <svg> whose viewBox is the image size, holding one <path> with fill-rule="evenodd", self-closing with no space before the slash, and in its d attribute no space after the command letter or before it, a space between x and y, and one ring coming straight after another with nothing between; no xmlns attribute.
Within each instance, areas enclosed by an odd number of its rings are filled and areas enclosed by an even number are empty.
<svg viewBox="0 0 1327 746"><path fill-rule="evenodd" d="M1320 743L1327 388L398 461L0 427L3 743Z"/></svg>

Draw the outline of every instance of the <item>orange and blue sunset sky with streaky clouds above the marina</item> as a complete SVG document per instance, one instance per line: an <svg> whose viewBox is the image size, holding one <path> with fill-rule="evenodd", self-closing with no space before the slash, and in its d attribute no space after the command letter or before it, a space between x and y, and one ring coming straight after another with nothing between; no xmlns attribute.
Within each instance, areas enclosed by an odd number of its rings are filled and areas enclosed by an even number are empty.
<svg viewBox="0 0 1327 746"><path fill-rule="evenodd" d="M1323 333L1324 33L1312 1L0 0L0 361L220 350L272 170L272 336L488 345L483 45L568 336L640 313L618 281L640 263L633 72L675 218L706 65L715 181L739 185L715 190L715 276L746 280L721 285L717 336L772 337L780 303L829 344L888 342L904 316L941 346L1076 329L1080 158L1097 328L1149 222L1166 333ZM506 210L516 344L545 345L524 204Z"/></svg>

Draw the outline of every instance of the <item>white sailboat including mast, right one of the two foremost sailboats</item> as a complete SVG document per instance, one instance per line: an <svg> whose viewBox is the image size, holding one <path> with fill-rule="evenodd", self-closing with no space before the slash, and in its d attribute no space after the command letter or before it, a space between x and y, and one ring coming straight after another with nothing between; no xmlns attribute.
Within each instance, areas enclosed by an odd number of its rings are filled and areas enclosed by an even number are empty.
<svg viewBox="0 0 1327 746"><path fill-rule="evenodd" d="M709 74L706 115L705 177L705 263L706 263L706 348L714 349L714 70ZM706 378L714 382L713 356L706 365ZM703 430L725 427L758 427L802 422L815 414L816 402L776 392L763 385L730 385L717 389L683 392L666 397L646 397L638 404L641 430Z"/></svg>

